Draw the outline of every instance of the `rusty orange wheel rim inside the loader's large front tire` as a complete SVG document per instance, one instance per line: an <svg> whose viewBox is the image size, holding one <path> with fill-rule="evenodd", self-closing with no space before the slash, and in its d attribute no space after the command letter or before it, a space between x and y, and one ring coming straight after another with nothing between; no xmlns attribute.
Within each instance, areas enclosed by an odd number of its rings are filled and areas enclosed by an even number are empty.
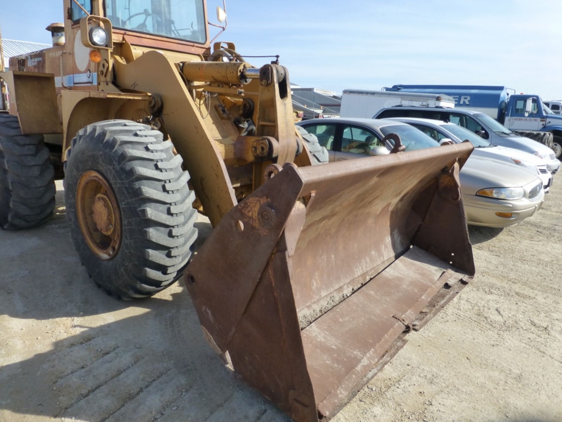
<svg viewBox="0 0 562 422"><path fill-rule="evenodd" d="M106 178L84 172L76 186L76 217L86 244L99 259L115 257L121 245L121 212Z"/></svg>

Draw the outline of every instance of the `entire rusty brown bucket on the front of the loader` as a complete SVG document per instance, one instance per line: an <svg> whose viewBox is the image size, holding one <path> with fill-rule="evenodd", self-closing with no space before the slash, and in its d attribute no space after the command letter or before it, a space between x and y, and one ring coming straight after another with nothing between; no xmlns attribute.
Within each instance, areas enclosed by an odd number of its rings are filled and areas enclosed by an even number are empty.
<svg viewBox="0 0 562 422"><path fill-rule="evenodd" d="M472 279L471 151L286 164L187 268L207 339L296 422L330 419Z"/></svg>

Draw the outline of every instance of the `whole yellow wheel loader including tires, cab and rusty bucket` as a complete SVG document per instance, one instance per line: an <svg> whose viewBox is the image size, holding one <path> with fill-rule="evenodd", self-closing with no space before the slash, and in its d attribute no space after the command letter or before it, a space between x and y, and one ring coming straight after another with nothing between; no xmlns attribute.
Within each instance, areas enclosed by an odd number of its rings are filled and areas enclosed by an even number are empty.
<svg viewBox="0 0 562 422"><path fill-rule="evenodd" d="M323 164L287 69L210 41L225 24L203 0L63 3L53 47L0 73L0 225L45 221L64 177L98 285L141 298L183 276L248 384L297 422L329 419L472 279L472 146L394 136L392 154ZM192 256L197 213L214 231Z"/></svg>

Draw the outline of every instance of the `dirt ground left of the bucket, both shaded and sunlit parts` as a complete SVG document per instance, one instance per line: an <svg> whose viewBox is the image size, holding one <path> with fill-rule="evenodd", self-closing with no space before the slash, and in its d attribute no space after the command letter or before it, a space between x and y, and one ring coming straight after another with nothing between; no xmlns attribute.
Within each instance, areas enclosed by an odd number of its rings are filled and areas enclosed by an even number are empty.
<svg viewBox="0 0 562 422"><path fill-rule="evenodd" d="M46 225L0 231L0 420L288 421L207 345L182 286L131 301L96 287L62 194Z"/></svg>

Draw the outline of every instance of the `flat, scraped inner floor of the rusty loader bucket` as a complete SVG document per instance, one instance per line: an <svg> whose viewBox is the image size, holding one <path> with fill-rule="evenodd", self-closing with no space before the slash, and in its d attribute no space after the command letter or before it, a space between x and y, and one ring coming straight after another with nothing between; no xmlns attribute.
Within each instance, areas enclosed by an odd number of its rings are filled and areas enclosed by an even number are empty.
<svg viewBox="0 0 562 422"><path fill-rule="evenodd" d="M302 331L321 415L333 416L445 282L463 276L447 267L414 246Z"/></svg>

